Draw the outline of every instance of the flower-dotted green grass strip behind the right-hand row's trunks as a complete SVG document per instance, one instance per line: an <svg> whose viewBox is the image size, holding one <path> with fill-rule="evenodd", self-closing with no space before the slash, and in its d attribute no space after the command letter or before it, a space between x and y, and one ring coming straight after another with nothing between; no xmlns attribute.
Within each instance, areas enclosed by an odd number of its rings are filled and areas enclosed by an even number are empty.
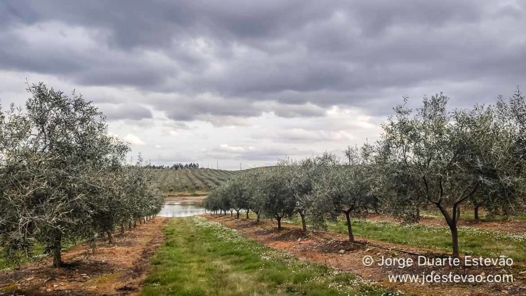
<svg viewBox="0 0 526 296"><path fill-rule="evenodd" d="M287 222L301 225L301 220ZM422 224L399 224L368 220L353 220L352 233L365 239L436 249L450 253L451 232L447 227ZM345 220L328 223L330 231L347 233ZM474 227L459 227L460 252L465 255L505 255L518 261L526 261L526 234L482 230Z"/></svg>

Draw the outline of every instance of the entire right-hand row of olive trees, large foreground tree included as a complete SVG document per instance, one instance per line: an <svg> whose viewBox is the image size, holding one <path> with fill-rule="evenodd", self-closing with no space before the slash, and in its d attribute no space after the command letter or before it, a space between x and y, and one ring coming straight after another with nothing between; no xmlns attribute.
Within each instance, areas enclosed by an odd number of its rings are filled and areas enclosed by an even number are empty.
<svg viewBox="0 0 526 296"><path fill-rule="evenodd" d="M420 209L438 209L459 255L457 224L462 204L490 213L524 210L526 104L517 92L509 101L453 110L448 98L424 97L422 107L394 108L374 144L348 149L344 163L331 154L249 170L205 200L211 211L246 209L278 222L298 214L314 225L345 215L382 211L416 222Z"/></svg>

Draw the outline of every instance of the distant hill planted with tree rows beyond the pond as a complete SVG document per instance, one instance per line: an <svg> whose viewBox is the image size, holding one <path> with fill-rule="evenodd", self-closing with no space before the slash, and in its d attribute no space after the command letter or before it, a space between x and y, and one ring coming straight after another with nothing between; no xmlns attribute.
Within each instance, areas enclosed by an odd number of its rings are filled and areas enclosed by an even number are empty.
<svg viewBox="0 0 526 296"><path fill-rule="evenodd" d="M155 183L163 192L208 191L228 180L239 171L214 169L150 169L154 172Z"/></svg>

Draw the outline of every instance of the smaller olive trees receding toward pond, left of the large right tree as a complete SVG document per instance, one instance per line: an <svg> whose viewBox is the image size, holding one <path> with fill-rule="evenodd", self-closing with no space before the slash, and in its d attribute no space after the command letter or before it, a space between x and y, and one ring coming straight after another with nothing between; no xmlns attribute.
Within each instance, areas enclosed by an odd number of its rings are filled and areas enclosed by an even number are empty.
<svg viewBox="0 0 526 296"><path fill-rule="evenodd" d="M357 150L356 150L357 151ZM276 219L281 229L282 218L299 215L307 231L307 218L317 227L345 214L349 222L349 240L353 241L352 215L375 210L376 199L365 181L366 160L358 157L352 165L342 165L339 159L325 153L301 161L284 160L273 167L252 169L228 180L204 200L205 208L213 212L241 210Z"/></svg>

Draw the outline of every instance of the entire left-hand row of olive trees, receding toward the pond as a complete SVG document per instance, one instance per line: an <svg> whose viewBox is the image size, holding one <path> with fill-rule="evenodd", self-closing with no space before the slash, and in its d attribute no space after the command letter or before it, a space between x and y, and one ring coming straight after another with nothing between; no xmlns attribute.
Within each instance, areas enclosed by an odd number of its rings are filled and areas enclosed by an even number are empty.
<svg viewBox="0 0 526 296"><path fill-rule="evenodd" d="M0 110L0 240L17 260L43 245L53 265L66 243L155 215L152 176L126 165L129 147L108 135L105 116L82 96L28 87L25 108Z"/></svg>

